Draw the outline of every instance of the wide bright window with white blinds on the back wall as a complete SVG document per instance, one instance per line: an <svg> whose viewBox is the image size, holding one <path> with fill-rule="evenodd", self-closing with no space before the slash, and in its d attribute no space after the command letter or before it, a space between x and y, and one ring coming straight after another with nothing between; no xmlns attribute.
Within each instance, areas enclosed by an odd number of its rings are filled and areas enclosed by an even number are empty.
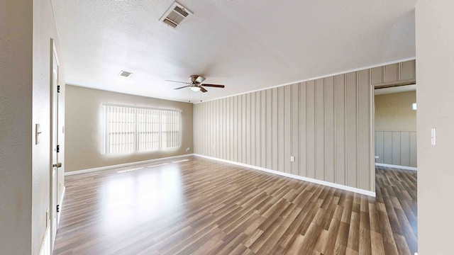
<svg viewBox="0 0 454 255"><path fill-rule="evenodd" d="M104 105L106 153L179 147L181 111Z"/></svg>

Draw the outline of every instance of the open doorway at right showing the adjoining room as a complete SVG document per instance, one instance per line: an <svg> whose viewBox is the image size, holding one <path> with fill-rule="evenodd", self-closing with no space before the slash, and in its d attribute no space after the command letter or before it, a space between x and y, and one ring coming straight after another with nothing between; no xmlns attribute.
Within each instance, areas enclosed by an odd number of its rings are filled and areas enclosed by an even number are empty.
<svg viewBox="0 0 454 255"><path fill-rule="evenodd" d="M374 91L376 199L390 209L391 228L408 245L399 254L418 250L416 88L411 84Z"/></svg>

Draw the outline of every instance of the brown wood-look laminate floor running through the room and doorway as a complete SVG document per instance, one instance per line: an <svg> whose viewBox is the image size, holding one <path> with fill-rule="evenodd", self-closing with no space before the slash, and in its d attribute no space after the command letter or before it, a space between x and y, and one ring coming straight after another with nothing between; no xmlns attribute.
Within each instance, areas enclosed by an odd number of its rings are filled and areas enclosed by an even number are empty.
<svg viewBox="0 0 454 255"><path fill-rule="evenodd" d="M377 198L188 157L67 176L54 254L414 254L416 172Z"/></svg>

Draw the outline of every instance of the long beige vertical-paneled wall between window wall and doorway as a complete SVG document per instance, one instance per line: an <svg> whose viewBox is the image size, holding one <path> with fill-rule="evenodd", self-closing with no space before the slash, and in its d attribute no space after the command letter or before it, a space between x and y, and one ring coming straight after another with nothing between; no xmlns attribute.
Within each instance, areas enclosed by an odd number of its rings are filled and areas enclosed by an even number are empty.
<svg viewBox="0 0 454 255"><path fill-rule="evenodd" d="M198 103L194 152L375 192L371 74Z"/></svg>

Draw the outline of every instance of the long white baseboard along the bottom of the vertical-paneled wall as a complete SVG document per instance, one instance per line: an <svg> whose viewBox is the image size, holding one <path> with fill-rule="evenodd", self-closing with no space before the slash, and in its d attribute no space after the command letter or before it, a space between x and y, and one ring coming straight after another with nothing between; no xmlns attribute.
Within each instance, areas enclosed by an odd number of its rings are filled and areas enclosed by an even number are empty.
<svg viewBox="0 0 454 255"><path fill-rule="evenodd" d="M345 186L345 185L341 185L341 184L337 184L337 183L331 183L331 182L328 182L328 181L321 181L321 180L312 179L312 178L308 178L308 177L304 177L304 176L297 176L295 174L287 174L287 173L283 173L283 172L280 172L280 171L275 171L275 170L271 170L271 169L265 169L265 168L260 167L260 166L253 166L253 165L250 165L250 164L243 164L243 163L233 162L233 161L226 160L226 159L218 159L218 158L215 158L215 157L208 157L208 156L204 156L204 155L201 155L201 154L194 154L194 156L195 157L202 157L202 158L205 158L205 159L213 159L213 160L216 160L218 162L234 164L234 165L237 165L237 166L245 166L245 167L248 167L250 169L256 169L256 170L260 170L260 171L265 171L265 172L268 172L268 173L271 173L271 174L277 174L277 175L280 175L280 176L285 176L285 177L289 177L289 178L293 178L293 179L298 179L298 180L301 180L301 181L309 181L311 183L317 183L317 184L321 184L321 185L324 185L324 186L329 186L329 187L333 187L333 188L340 188L340 189L342 189L344 191L352 191L352 192L355 192L355 193L360 193L360 194L371 196L371 197L375 198L375 192L366 191L366 190L363 190L361 188L353 188L353 187L349 187L349 186Z"/></svg>

